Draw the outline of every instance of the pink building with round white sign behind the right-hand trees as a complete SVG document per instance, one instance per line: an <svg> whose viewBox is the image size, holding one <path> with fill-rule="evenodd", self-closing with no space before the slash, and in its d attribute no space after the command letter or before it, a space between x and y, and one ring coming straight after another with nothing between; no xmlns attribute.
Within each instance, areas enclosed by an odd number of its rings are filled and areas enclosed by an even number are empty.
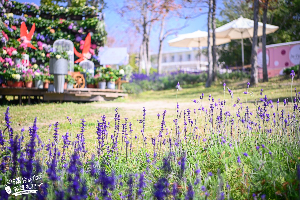
<svg viewBox="0 0 300 200"><path fill-rule="evenodd" d="M283 70L300 62L300 41L271 44L266 46L268 77L282 75ZM258 75L262 79L262 49L257 52Z"/></svg>

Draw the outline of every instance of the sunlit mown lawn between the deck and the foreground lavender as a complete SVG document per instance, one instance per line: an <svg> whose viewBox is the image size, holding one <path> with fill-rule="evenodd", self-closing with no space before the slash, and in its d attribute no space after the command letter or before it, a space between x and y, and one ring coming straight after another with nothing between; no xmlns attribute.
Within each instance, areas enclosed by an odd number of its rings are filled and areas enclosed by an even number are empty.
<svg viewBox="0 0 300 200"><path fill-rule="evenodd" d="M293 88L299 88L300 82L294 80ZM75 136L80 131L80 119L84 118L86 121L85 138L88 151L94 151L94 143L96 138L95 127L97 126L97 120L101 119L102 115L107 117L107 120L111 122L111 127L114 126L114 113L118 107L118 112L121 117L121 124L124 123L124 118L129 118L129 122L133 123L133 133L140 133L142 125L137 121L143 117L143 107L146 112L146 129L145 134L148 138L158 135L160 128L160 120L158 120L157 114L162 114L163 110L167 110L166 125L173 124L173 119L176 111L176 94L177 102L179 103L179 109L183 113L183 109L196 109L198 112L199 104L193 103L192 100L199 100L199 97L204 93L204 99L202 106L208 109L208 95L214 97L215 100L223 100L223 82L218 82L212 85L211 88L205 88L204 83L196 85L181 85L182 90L177 91L174 89L164 91L146 91L138 95L129 95L127 99L116 99L108 102L92 102L92 103L40 103L35 105L9 105L10 114L12 120L12 127L16 131L20 131L23 127L25 130L29 129L32 125L34 118L37 117L37 124L39 127L38 134L41 139L48 138L49 124L59 122L59 134L62 135L69 130L71 132L71 125L67 120L69 116L73 121L73 132ZM234 93L234 101L237 97L241 99L241 103L245 103L246 95L243 94L247 91L247 80L243 81L229 81L226 82L226 87L229 87ZM271 78L269 82L259 83L255 87L250 86L249 92L253 92L254 97L247 95L247 106L251 110L255 109L253 103L255 99L259 100L260 89L263 88L263 94L268 96L269 100L280 102L283 99L291 99L291 86L290 79L285 77ZM295 96L293 91L293 96ZM234 110L231 106L231 97L227 91L225 92L225 100L227 102L227 109ZM234 104L234 102L233 102ZM0 106L0 113L4 113L8 105ZM2 115L3 116L3 115ZM1 120L0 129L3 129L4 120ZM200 121L201 123L201 121ZM203 121L202 121L203 125ZM199 126L201 127L201 126ZM173 128L169 127L169 130ZM52 129L53 130L53 129ZM49 134L53 134L50 131ZM51 137L51 136L49 136Z"/></svg>

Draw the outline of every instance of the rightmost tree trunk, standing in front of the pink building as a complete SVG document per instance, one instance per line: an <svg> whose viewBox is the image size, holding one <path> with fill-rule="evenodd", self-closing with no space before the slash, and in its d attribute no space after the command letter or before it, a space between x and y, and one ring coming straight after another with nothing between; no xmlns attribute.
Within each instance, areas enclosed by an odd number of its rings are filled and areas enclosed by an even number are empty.
<svg viewBox="0 0 300 200"><path fill-rule="evenodd" d="M263 8L263 19L262 19L262 76L263 82L268 82L268 69L267 69L267 56L266 56L266 43L267 36L265 34L265 24L267 23L267 10L268 10L268 0L265 0L264 8Z"/></svg>

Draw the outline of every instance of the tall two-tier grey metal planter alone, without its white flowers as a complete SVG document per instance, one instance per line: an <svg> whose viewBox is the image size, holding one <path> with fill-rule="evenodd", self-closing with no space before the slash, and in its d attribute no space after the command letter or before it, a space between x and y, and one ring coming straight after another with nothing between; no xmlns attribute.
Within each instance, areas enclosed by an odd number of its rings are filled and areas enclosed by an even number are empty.
<svg viewBox="0 0 300 200"><path fill-rule="evenodd" d="M64 58L49 60L49 73L54 74L54 88L56 92L64 92L64 75L68 74L68 61Z"/></svg>

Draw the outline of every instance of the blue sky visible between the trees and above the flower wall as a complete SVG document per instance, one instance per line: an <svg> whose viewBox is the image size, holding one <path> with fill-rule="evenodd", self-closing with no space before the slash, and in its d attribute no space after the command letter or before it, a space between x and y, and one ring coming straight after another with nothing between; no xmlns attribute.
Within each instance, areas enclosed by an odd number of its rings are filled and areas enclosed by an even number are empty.
<svg viewBox="0 0 300 200"><path fill-rule="evenodd" d="M19 2L26 2L26 0L19 0ZM28 1L27 1L28 2ZM36 4L40 4L39 0L33 0ZM107 8L104 10L105 13L105 23L108 37L115 41L111 46L113 47L127 47L128 51L138 51L138 47L141 43L141 36L134 28L132 28L131 23L122 18L118 13L117 9L122 7L124 0L106 0ZM222 6L222 0L217 0L217 17L218 17L218 6ZM206 12L206 8L201 8L199 13ZM178 28L184 25L186 19L180 19L178 17L172 17L168 22L166 22L167 28ZM207 31L207 14L202 14L201 16L188 19L187 27L182 30L177 31L178 34L190 33L193 31L201 30ZM158 52L158 36L159 36L159 27L158 24L155 24L152 29L151 34L151 51ZM163 51L176 51L184 48L170 47L167 43L167 40L173 39L176 35L170 35L164 41Z"/></svg>

